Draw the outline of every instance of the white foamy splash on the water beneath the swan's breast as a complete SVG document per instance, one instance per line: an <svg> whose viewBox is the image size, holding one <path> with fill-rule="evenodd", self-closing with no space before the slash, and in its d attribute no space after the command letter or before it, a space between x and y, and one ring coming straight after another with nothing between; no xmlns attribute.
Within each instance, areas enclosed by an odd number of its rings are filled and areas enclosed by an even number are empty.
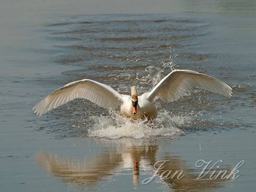
<svg viewBox="0 0 256 192"><path fill-rule="evenodd" d="M95 126L88 130L89 137L97 138L155 138L182 134L177 128L190 121L187 116L171 116L167 111L158 113L158 117L152 121L148 119L132 120L118 112L110 112L110 116L94 116Z"/></svg>

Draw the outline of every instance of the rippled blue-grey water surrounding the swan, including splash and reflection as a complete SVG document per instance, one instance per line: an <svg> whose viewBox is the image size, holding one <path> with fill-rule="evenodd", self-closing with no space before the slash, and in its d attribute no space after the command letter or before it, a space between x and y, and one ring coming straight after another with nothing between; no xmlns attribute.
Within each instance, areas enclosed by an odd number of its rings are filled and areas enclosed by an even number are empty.
<svg viewBox="0 0 256 192"><path fill-rule="evenodd" d="M106 9L79 1L1 3L2 190L255 189L255 3L163 5L133 5L130 14L120 14L122 3ZM119 14L102 15L114 10ZM102 14L87 15L94 11ZM73 80L94 79L127 94L133 83L142 93L171 67L217 77L234 96L192 89L179 101L158 102L153 122L131 122L83 100L42 117L31 110ZM245 164L234 181L196 181L199 159L221 159L221 169L229 170ZM170 160L165 169L184 170L185 177L143 185L159 160Z"/></svg>

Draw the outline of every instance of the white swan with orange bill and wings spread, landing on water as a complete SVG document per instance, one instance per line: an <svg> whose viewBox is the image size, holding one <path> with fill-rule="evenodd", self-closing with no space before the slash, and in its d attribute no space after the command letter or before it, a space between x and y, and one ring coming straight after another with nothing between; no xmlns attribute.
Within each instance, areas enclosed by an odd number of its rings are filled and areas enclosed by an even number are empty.
<svg viewBox="0 0 256 192"><path fill-rule="evenodd" d="M46 95L34 105L33 110L41 116L69 101L83 98L106 109L117 109L121 106L121 113L134 119L144 116L155 117L157 115L154 104L156 99L159 98L165 103L177 101L192 87L200 87L228 98L232 96L232 89L214 77L192 70L173 70L152 91L139 96L135 86L132 87L130 96L120 94L111 87L94 80L74 81Z"/></svg>

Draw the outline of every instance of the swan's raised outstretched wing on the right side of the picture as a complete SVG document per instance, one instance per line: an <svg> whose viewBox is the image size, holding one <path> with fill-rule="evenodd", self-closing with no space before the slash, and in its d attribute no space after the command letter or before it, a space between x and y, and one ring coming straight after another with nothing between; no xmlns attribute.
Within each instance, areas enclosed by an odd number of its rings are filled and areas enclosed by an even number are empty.
<svg viewBox="0 0 256 192"><path fill-rule="evenodd" d="M173 70L151 92L144 93L142 97L151 102L159 98L168 103L177 101L192 87L200 87L228 98L232 96L232 89L214 77L193 70Z"/></svg>

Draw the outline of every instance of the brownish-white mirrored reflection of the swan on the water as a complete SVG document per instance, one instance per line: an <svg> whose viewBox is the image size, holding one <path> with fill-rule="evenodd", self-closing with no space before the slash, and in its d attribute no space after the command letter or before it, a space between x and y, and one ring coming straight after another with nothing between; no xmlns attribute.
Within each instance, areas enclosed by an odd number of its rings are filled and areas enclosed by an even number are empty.
<svg viewBox="0 0 256 192"><path fill-rule="evenodd" d="M179 170L183 171L182 175L184 176L180 179L177 176L161 179L162 183L167 184L174 191L208 191L224 187L224 182L228 181L220 177L209 179L212 172L206 174L203 179L196 179L203 167L201 167L201 170L189 168L187 161L178 155L171 154L171 152L164 153L162 157L157 158L159 146L156 139L139 141L124 139L123 141L121 146L108 147L90 160L87 160L86 157L86 160L83 161L76 160L41 150L37 152L36 159L39 166L50 172L51 176L61 177L63 182L83 184L85 187L93 186L99 182L111 181L112 176L117 175L120 171L126 171L127 173L129 170L132 170L133 185L136 187L139 182L154 174L154 164L156 162L166 160L168 161L165 162L159 174L168 170L171 173ZM145 168L149 168L151 172L146 173ZM220 168L214 170L217 172L220 171ZM226 166L222 167L221 170L230 172L231 169L230 166ZM140 174L141 179L139 179ZM157 177L152 182L156 180Z"/></svg>

